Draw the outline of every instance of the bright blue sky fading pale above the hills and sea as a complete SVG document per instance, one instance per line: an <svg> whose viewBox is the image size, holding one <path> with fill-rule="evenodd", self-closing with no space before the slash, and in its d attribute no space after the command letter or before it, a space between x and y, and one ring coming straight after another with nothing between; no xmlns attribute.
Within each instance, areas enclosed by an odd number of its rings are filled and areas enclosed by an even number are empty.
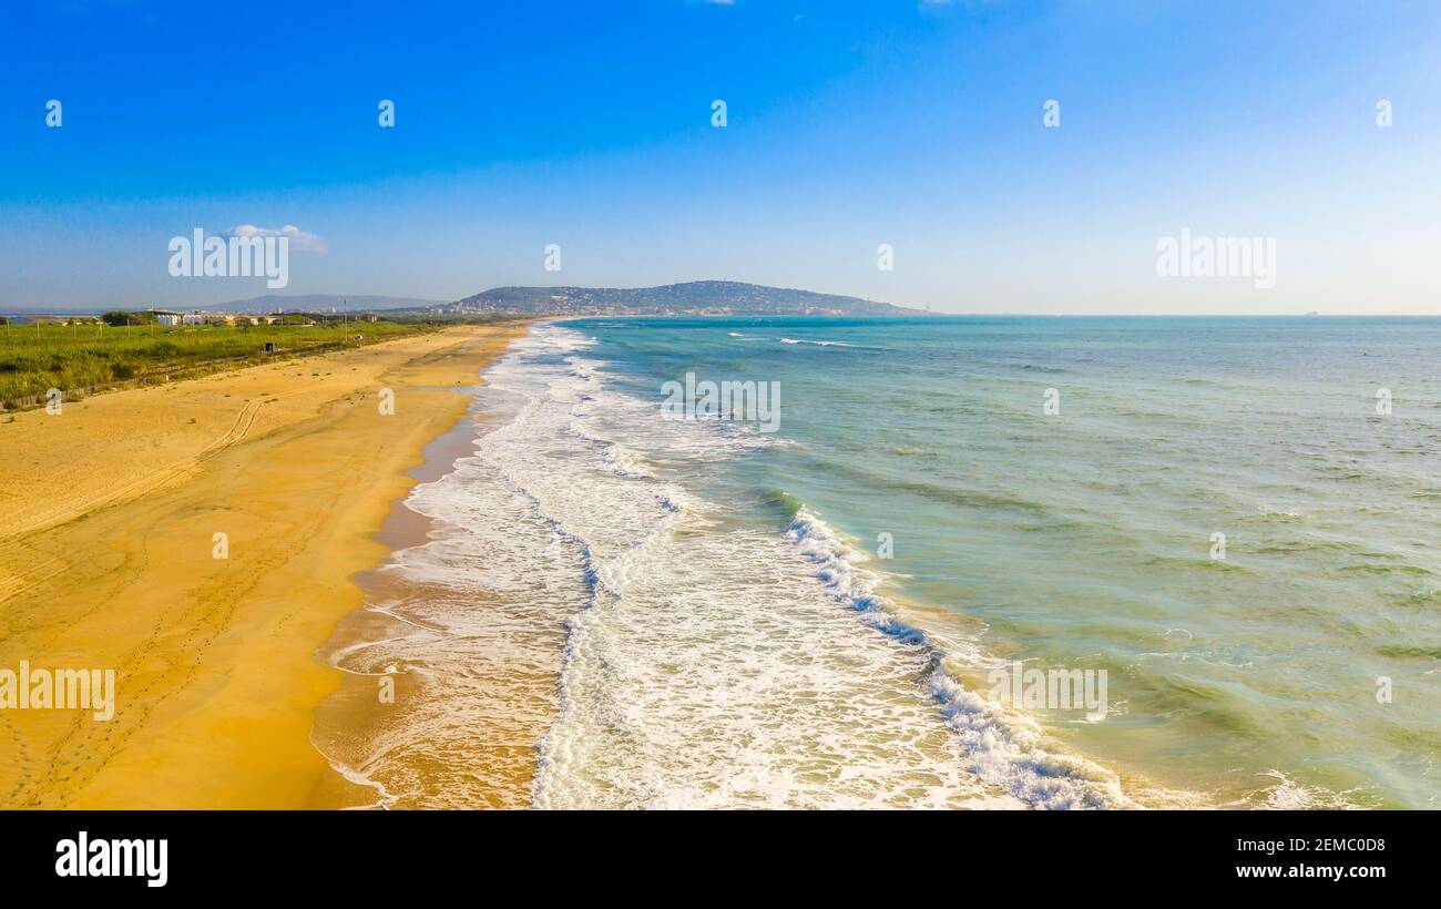
<svg viewBox="0 0 1441 909"><path fill-rule="evenodd" d="M258 295L171 278L169 239L294 225L295 294L1441 313L1435 3L379 6L10 4L0 307ZM1275 287L1157 277L1183 228L1275 238Z"/></svg>

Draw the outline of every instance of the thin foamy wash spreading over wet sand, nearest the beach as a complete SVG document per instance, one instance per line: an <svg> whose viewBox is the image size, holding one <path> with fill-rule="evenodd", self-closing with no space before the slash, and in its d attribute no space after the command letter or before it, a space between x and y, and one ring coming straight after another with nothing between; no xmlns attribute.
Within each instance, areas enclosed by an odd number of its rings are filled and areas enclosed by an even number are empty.
<svg viewBox="0 0 1441 909"><path fill-rule="evenodd" d="M585 346L525 339L513 357ZM565 445L539 402L546 383L579 382L517 370L512 357L488 377L478 393L499 419L483 424L476 455L406 500L435 529L380 570L398 583L379 585L367 608L396 619L393 630L333 655L347 671L393 667L416 686L366 736L317 740L349 779L376 789L379 807L529 805L513 781L553 717L563 621L589 596L584 547L540 511L526 485L539 484L509 468L539 439Z"/></svg>

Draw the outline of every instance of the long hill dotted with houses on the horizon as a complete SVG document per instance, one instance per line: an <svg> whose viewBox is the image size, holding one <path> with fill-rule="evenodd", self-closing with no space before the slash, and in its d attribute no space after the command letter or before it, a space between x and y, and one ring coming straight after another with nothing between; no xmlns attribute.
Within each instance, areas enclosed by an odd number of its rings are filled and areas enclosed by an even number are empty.
<svg viewBox="0 0 1441 909"><path fill-rule="evenodd" d="M496 287L432 313L507 315L906 315L889 303L739 281L661 287Z"/></svg>

